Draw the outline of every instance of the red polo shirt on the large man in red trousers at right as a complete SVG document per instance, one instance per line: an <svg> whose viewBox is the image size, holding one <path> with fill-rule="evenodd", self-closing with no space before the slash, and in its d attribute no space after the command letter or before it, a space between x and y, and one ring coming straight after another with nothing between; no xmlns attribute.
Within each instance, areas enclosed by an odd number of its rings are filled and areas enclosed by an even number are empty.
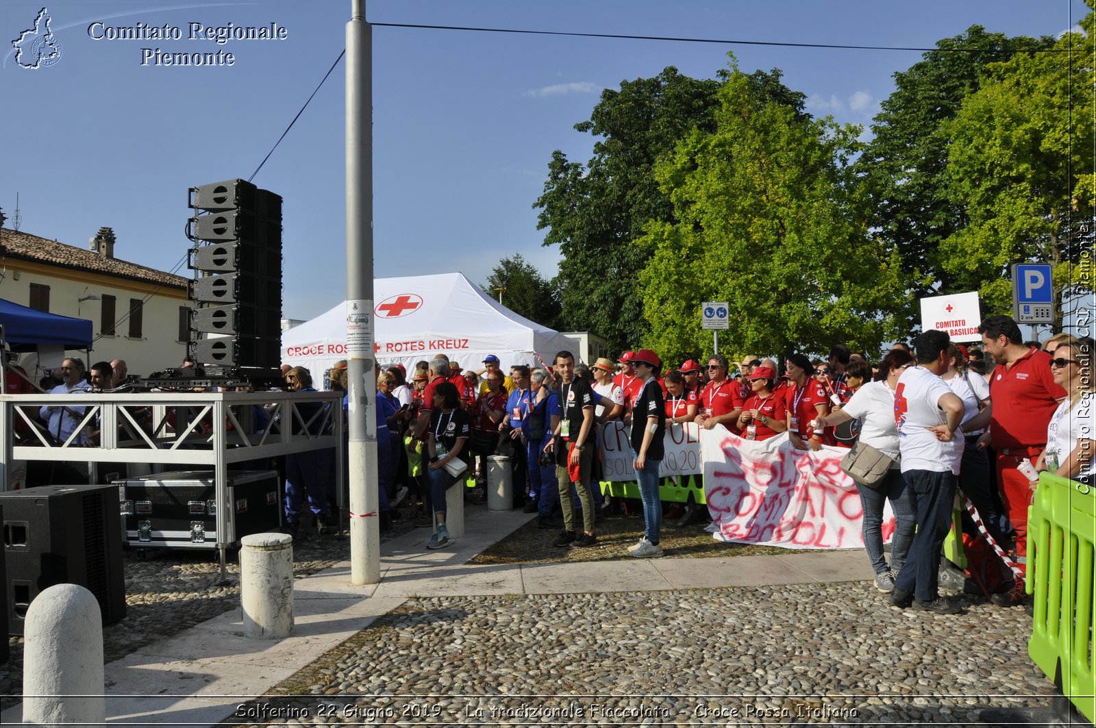
<svg viewBox="0 0 1096 728"><path fill-rule="evenodd" d="M998 364L990 377L993 416L990 433L993 448L1043 447L1047 425L1065 390L1054 384L1050 354L1031 348L1005 368Z"/></svg>

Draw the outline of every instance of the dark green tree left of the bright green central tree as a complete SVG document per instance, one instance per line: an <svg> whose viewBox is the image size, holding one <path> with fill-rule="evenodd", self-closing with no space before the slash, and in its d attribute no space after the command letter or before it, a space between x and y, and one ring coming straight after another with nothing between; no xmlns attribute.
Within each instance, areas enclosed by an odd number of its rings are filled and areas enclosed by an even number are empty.
<svg viewBox="0 0 1096 728"><path fill-rule="evenodd" d="M751 93L775 98L803 115L804 96L780 82L780 72L746 77ZM713 128L719 80L693 79L667 67L655 78L606 89L586 122L575 129L594 135L585 164L552 152L538 229L546 246L563 254L556 283L569 330L590 330L610 350L637 345L647 330L639 272L651 249L639 242L651 220L671 221L674 208L654 179L655 164L694 128Z"/></svg>

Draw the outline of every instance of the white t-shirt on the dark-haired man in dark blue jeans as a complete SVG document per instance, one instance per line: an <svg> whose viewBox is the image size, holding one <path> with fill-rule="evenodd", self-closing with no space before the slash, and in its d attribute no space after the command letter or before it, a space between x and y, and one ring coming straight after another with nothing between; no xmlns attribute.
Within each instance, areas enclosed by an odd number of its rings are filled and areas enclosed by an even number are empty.
<svg viewBox="0 0 1096 728"><path fill-rule="evenodd" d="M947 418L939 407L940 397L952 394L940 377L923 366L911 366L898 379L894 391L894 421L902 473L932 470L959 475L963 433L956 430L951 440L941 442L928 428L944 424Z"/></svg>

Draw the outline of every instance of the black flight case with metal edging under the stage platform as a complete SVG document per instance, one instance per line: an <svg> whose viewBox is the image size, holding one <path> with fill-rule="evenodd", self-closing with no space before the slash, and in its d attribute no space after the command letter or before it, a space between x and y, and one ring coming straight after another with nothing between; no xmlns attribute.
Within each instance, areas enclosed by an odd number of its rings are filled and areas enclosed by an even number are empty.
<svg viewBox="0 0 1096 728"><path fill-rule="evenodd" d="M230 470L218 499L212 470L159 473L117 484L125 543L137 548L208 548L236 545L282 525L276 470ZM217 533L224 509L226 532ZM222 536L222 537L218 537Z"/></svg>

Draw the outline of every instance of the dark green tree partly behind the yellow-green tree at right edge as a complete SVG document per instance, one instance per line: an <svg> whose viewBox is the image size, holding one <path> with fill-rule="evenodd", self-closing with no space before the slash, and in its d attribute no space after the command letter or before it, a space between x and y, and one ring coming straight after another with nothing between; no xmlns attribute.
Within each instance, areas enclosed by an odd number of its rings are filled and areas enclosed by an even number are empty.
<svg viewBox="0 0 1096 728"><path fill-rule="evenodd" d="M856 168L869 183L871 226L883 244L901 252L914 297L972 289L940 251L940 241L967 224L964 205L951 195L945 122L978 91L990 64L1052 44L1049 36L1009 38L972 25L894 75L895 90L882 102ZM911 307L906 318L912 327L920 311Z"/></svg>

